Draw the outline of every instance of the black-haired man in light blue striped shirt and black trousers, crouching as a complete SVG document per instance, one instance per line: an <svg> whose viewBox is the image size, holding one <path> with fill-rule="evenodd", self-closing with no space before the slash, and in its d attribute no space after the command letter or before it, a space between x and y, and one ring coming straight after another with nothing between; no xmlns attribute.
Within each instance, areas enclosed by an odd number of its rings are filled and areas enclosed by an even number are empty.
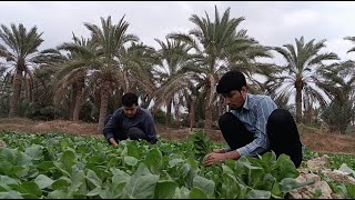
<svg viewBox="0 0 355 200"><path fill-rule="evenodd" d="M216 91L231 108L219 120L230 149L213 150L205 157L206 166L272 150L276 157L282 153L290 156L296 168L300 167L302 143L296 123L287 110L277 109L267 96L247 93L245 77L240 71L226 72Z"/></svg>

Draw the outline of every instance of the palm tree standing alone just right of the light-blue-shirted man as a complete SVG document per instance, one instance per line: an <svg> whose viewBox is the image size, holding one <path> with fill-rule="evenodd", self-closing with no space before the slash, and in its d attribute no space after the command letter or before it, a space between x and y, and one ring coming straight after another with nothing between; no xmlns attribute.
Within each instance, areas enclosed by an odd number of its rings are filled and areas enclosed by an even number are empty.
<svg viewBox="0 0 355 200"><path fill-rule="evenodd" d="M315 42L315 39L305 43L304 38L295 39L296 46L284 44L284 48L274 47L273 50L281 53L286 60L286 66L283 69L287 72L283 76L285 88L284 91L290 88L296 89L296 122L302 120L302 99L305 97L312 97L321 104L325 104L324 96L312 83L315 82L317 71L324 68L324 61L338 60L338 57L333 52L321 53L320 51L325 48L325 41L321 40ZM303 96L302 92L306 92Z"/></svg>

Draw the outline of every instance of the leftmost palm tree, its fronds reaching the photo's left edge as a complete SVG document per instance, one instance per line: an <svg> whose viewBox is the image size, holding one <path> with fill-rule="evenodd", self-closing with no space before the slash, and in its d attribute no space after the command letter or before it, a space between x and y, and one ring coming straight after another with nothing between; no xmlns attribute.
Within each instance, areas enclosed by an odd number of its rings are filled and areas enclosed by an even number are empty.
<svg viewBox="0 0 355 200"><path fill-rule="evenodd" d="M43 42L42 33L38 33L34 26L29 31L20 23L12 23L10 28L1 24L0 38L4 46L0 44L0 57L4 57L14 67L13 94L10 102L9 117L18 116L18 103L22 86L23 72L30 77L32 84L32 72L30 67L32 60L38 56L38 47Z"/></svg>

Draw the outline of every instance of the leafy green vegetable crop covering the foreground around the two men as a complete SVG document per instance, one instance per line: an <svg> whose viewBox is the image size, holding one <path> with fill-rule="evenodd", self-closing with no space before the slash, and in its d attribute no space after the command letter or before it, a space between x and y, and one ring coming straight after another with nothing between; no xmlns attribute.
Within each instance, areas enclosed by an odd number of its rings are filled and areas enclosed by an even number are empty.
<svg viewBox="0 0 355 200"><path fill-rule="evenodd" d="M285 198L300 172L272 152L212 167L201 163L219 148L194 132L190 142L122 141L103 137L0 133L0 198ZM343 188L342 188L343 187ZM334 186L352 197L355 186Z"/></svg>

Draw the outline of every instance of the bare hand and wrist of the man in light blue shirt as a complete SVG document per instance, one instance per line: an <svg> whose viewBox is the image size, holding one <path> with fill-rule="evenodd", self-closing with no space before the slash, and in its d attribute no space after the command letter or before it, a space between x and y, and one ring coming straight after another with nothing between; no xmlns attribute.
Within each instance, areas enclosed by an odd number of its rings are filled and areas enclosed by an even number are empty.
<svg viewBox="0 0 355 200"><path fill-rule="evenodd" d="M224 152L222 149L214 149L213 152L205 156L203 163L212 166L213 163L223 162L225 160L237 160L241 156L237 151Z"/></svg>

